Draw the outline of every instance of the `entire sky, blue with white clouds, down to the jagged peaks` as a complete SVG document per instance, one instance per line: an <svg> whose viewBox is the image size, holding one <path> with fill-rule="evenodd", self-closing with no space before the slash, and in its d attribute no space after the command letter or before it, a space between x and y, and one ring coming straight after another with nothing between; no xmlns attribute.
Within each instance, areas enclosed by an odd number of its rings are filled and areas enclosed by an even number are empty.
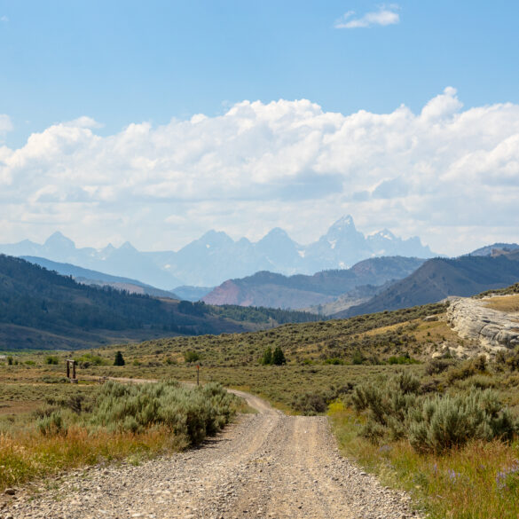
<svg viewBox="0 0 519 519"><path fill-rule="evenodd" d="M519 4L0 0L0 242L519 241Z"/></svg>

